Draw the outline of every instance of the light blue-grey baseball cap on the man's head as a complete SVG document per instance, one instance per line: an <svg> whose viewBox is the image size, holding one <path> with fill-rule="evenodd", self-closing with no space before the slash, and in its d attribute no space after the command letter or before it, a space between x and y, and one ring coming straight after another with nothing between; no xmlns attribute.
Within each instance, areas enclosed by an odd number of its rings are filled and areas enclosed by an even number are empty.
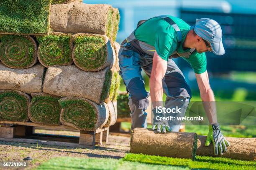
<svg viewBox="0 0 256 170"><path fill-rule="evenodd" d="M225 54L222 43L222 30L220 24L210 18L196 19L196 23L192 26L195 33L202 39L210 42L212 52L216 55Z"/></svg>

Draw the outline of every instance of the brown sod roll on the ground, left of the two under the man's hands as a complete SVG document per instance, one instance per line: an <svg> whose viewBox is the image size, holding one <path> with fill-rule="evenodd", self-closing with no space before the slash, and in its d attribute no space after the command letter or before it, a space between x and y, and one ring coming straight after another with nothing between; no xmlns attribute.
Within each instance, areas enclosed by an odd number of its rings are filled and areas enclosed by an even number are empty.
<svg viewBox="0 0 256 170"><path fill-rule="evenodd" d="M155 133L146 128L135 128L131 135L131 153L195 159L195 133Z"/></svg>

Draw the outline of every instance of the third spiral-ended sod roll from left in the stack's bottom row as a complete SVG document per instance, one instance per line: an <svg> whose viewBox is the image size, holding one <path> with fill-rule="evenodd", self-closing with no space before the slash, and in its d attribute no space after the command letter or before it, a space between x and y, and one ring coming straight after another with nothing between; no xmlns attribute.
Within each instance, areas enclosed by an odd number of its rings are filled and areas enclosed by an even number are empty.
<svg viewBox="0 0 256 170"><path fill-rule="evenodd" d="M108 121L108 106L82 97L64 97L59 100L61 105L60 122L79 130L93 131Z"/></svg>

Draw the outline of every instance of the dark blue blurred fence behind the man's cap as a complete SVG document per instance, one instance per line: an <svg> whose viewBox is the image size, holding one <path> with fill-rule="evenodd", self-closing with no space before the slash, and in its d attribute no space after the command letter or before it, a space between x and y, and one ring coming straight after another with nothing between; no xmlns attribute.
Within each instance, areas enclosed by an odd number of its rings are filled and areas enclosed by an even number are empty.
<svg viewBox="0 0 256 170"><path fill-rule="evenodd" d="M256 15L234 13L211 13L181 10L181 18L189 25L196 18L216 20L223 32L225 55L207 52L207 70L210 72L256 71ZM190 67L179 59L181 68Z"/></svg>

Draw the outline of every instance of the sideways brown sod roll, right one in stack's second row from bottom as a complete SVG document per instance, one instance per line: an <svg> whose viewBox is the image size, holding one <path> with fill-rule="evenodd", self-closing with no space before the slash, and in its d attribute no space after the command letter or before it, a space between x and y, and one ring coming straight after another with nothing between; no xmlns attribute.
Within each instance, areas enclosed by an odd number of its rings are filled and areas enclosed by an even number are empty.
<svg viewBox="0 0 256 170"><path fill-rule="evenodd" d="M97 104L109 96L112 72L85 72L75 65L49 67L46 70L43 92L57 96L84 97Z"/></svg>

